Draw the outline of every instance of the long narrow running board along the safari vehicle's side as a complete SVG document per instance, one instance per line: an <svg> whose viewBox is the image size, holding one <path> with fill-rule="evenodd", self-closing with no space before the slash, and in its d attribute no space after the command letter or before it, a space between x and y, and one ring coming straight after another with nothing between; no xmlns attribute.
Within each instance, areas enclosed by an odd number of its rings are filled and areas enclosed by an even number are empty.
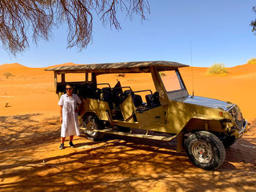
<svg viewBox="0 0 256 192"><path fill-rule="evenodd" d="M86 130L86 128L80 128L80 129ZM116 135L127 136L127 137L138 137L138 138L143 138L143 139L161 140L161 141L166 141L166 142L177 137L177 134L172 137L165 137L165 136L158 136L158 135L151 135L151 134L132 134L132 133L126 133L126 132L122 132L122 131L113 131L110 129L102 129L102 130L94 129L91 131L101 132L101 133L105 133L105 134L116 134Z"/></svg>

